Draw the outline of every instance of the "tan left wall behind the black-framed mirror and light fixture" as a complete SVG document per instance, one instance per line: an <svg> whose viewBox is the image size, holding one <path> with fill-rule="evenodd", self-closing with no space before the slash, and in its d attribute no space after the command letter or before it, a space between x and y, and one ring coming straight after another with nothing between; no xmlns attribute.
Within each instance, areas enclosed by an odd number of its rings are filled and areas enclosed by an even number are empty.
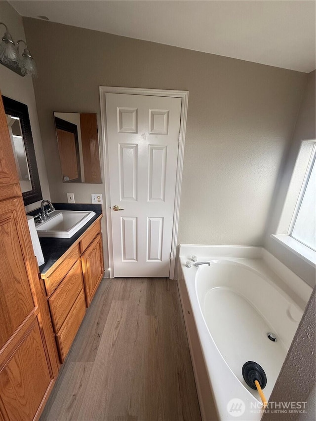
<svg viewBox="0 0 316 421"><path fill-rule="evenodd" d="M26 39L22 17L7 1L0 1L0 21L4 22L8 27L9 33L15 42L18 39ZM1 25L0 31L0 38L2 38L4 26ZM21 77L0 65L0 90L2 95L28 106L34 149L39 169L41 192L43 198L50 199L32 78L29 76ZM32 205L26 206L26 211L31 211L39 206L40 202L33 203Z"/></svg>

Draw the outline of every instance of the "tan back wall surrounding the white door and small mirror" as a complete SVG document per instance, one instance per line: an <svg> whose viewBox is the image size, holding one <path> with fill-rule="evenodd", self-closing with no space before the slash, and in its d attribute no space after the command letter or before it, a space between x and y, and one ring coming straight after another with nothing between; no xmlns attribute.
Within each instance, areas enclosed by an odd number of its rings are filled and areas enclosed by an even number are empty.
<svg viewBox="0 0 316 421"><path fill-rule="evenodd" d="M53 112L98 113L99 86L189 90L178 242L263 243L307 75L24 18L38 64L40 129L53 201L102 185L61 182Z"/></svg>

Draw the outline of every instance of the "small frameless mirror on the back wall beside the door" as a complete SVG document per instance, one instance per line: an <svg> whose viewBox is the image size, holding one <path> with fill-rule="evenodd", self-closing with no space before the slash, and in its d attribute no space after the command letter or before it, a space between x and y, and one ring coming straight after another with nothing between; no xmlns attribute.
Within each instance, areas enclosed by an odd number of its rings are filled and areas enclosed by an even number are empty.
<svg viewBox="0 0 316 421"><path fill-rule="evenodd" d="M102 183L97 115L54 113L64 183Z"/></svg>

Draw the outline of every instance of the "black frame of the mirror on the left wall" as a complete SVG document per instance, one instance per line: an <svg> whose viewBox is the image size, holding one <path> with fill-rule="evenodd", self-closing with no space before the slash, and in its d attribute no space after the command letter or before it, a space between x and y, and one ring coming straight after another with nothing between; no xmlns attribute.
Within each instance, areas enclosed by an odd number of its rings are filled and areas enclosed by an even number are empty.
<svg viewBox="0 0 316 421"><path fill-rule="evenodd" d="M3 95L2 101L5 114L13 115L20 119L25 153L32 183L32 190L22 193L24 206L27 206L31 203L38 202L43 198L40 189L40 177L34 150L29 110L26 104L22 104L21 102L7 98Z"/></svg>

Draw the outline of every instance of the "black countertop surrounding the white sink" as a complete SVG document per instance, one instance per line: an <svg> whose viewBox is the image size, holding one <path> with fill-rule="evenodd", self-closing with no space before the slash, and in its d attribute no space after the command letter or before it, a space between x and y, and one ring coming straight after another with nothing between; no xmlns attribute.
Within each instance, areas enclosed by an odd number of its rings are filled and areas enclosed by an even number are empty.
<svg viewBox="0 0 316 421"><path fill-rule="evenodd" d="M78 238L96 221L102 214L101 205L90 205L80 203L53 203L56 210L85 210L95 212L95 216L90 219L71 238L39 237L40 246L43 252L45 263L40 266L40 273L47 272L49 268L78 240ZM46 206L45 206L46 207ZM29 215L36 215L39 209L32 211Z"/></svg>

